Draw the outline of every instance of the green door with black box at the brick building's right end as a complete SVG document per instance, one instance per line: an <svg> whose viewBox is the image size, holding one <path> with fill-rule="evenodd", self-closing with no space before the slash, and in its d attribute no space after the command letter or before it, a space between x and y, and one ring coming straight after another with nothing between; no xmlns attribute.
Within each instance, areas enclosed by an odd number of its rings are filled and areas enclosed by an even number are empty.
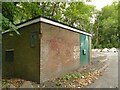
<svg viewBox="0 0 120 90"><path fill-rule="evenodd" d="M80 64L87 65L89 63L89 41L88 36L80 34Z"/></svg>

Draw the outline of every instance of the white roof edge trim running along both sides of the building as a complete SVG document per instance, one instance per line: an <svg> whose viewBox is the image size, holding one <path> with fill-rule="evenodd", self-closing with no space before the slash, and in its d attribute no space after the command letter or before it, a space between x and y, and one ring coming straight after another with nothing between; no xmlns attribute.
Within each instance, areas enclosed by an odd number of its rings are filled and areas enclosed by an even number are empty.
<svg viewBox="0 0 120 90"><path fill-rule="evenodd" d="M22 28L22 27L24 27L24 26L28 26L28 25L30 25L30 24L34 24L34 23L37 23L37 22L48 23L48 24L51 24L51 25L54 25L54 26L58 26L58 27L61 27L61 28L68 29L68 30L70 30L70 31L74 31L74 32L77 32L77 33L81 33L81 34L85 34L85 35L88 35L88 36L92 36L92 34L90 34L90 33L87 33L87 32L84 32L84 31L80 31L79 29L76 29L76 28L73 28L73 27L64 25L64 24L62 24L62 23L55 22L55 21L52 21L52 20L43 18L43 17L39 17L39 18L30 20L30 21L28 21L28 22L19 24L19 25L17 25L17 28L19 29L19 28ZM10 30L6 30L6 31L2 32L2 34L7 33L7 32L10 32Z"/></svg>

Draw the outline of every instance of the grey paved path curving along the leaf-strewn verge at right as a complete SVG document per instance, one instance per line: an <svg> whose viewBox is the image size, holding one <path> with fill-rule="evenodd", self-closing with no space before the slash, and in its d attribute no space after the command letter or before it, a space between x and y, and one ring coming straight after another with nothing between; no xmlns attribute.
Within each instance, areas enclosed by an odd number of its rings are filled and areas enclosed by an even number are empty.
<svg viewBox="0 0 120 90"><path fill-rule="evenodd" d="M108 67L93 84L87 88L116 88L118 87L118 53L106 53Z"/></svg>

